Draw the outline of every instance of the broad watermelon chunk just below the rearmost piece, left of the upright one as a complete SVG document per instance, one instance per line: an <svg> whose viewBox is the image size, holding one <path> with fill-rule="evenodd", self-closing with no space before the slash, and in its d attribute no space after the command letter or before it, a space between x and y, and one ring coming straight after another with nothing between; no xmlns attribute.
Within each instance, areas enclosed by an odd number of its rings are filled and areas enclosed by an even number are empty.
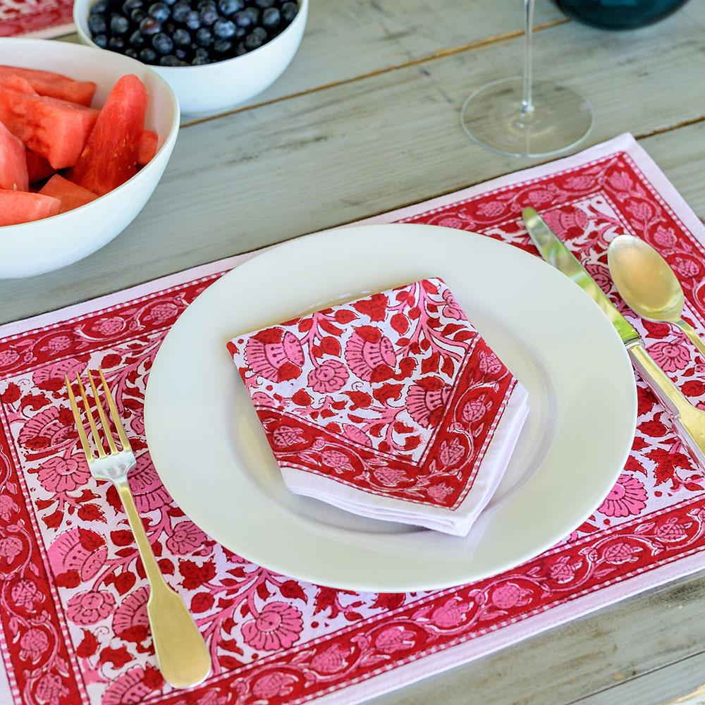
<svg viewBox="0 0 705 705"><path fill-rule="evenodd" d="M37 152L55 169L73 166L85 146L98 111L57 98L28 94L0 82L0 122L25 147Z"/></svg>

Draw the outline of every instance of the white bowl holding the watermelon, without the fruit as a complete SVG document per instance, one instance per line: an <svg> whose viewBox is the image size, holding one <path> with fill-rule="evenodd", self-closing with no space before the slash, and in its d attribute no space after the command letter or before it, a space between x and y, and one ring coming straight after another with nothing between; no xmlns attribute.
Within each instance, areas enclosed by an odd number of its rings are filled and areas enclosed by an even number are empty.
<svg viewBox="0 0 705 705"><path fill-rule="evenodd" d="M145 127L159 135L157 154L130 180L72 211L31 223L0 227L0 278L17 278L78 262L121 233L157 187L176 142L179 107L168 84L149 66L112 51L49 39L0 39L1 63L92 80L93 106L104 102L115 82L134 73L147 87Z"/></svg>

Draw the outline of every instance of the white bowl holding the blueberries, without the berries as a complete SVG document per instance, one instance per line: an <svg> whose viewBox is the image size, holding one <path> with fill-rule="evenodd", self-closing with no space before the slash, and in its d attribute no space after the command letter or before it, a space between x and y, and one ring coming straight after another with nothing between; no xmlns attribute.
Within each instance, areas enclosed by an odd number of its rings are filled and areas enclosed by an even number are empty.
<svg viewBox="0 0 705 705"><path fill-rule="evenodd" d="M75 0L73 21L84 44L97 47L90 38L88 15L96 0ZM259 49L227 61L205 66L152 66L178 96L183 114L204 117L230 110L255 97L281 76L301 44L309 0L300 0L293 22L281 35ZM102 49L109 54L115 52Z"/></svg>

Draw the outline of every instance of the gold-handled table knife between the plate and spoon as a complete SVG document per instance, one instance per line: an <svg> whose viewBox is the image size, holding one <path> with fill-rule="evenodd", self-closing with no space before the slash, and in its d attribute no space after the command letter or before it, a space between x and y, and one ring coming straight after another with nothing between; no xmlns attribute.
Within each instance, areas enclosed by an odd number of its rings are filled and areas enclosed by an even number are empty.
<svg viewBox="0 0 705 705"><path fill-rule="evenodd" d="M661 367L658 367L646 352L639 333L620 314L558 235L546 225L546 221L533 208L523 209L522 218L541 257L563 274L570 276L612 321L627 348L632 364L673 417L673 426L693 458L705 468L705 412L694 407Z"/></svg>

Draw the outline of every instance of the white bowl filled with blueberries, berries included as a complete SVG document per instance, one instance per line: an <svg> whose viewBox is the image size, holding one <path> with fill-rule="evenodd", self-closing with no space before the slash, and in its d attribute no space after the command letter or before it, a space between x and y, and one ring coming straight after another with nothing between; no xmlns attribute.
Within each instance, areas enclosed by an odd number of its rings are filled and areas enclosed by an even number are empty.
<svg viewBox="0 0 705 705"><path fill-rule="evenodd" d="M296 54L309 0L75 0L84 44L148 64L186 116L261 93Z"/></svg>

